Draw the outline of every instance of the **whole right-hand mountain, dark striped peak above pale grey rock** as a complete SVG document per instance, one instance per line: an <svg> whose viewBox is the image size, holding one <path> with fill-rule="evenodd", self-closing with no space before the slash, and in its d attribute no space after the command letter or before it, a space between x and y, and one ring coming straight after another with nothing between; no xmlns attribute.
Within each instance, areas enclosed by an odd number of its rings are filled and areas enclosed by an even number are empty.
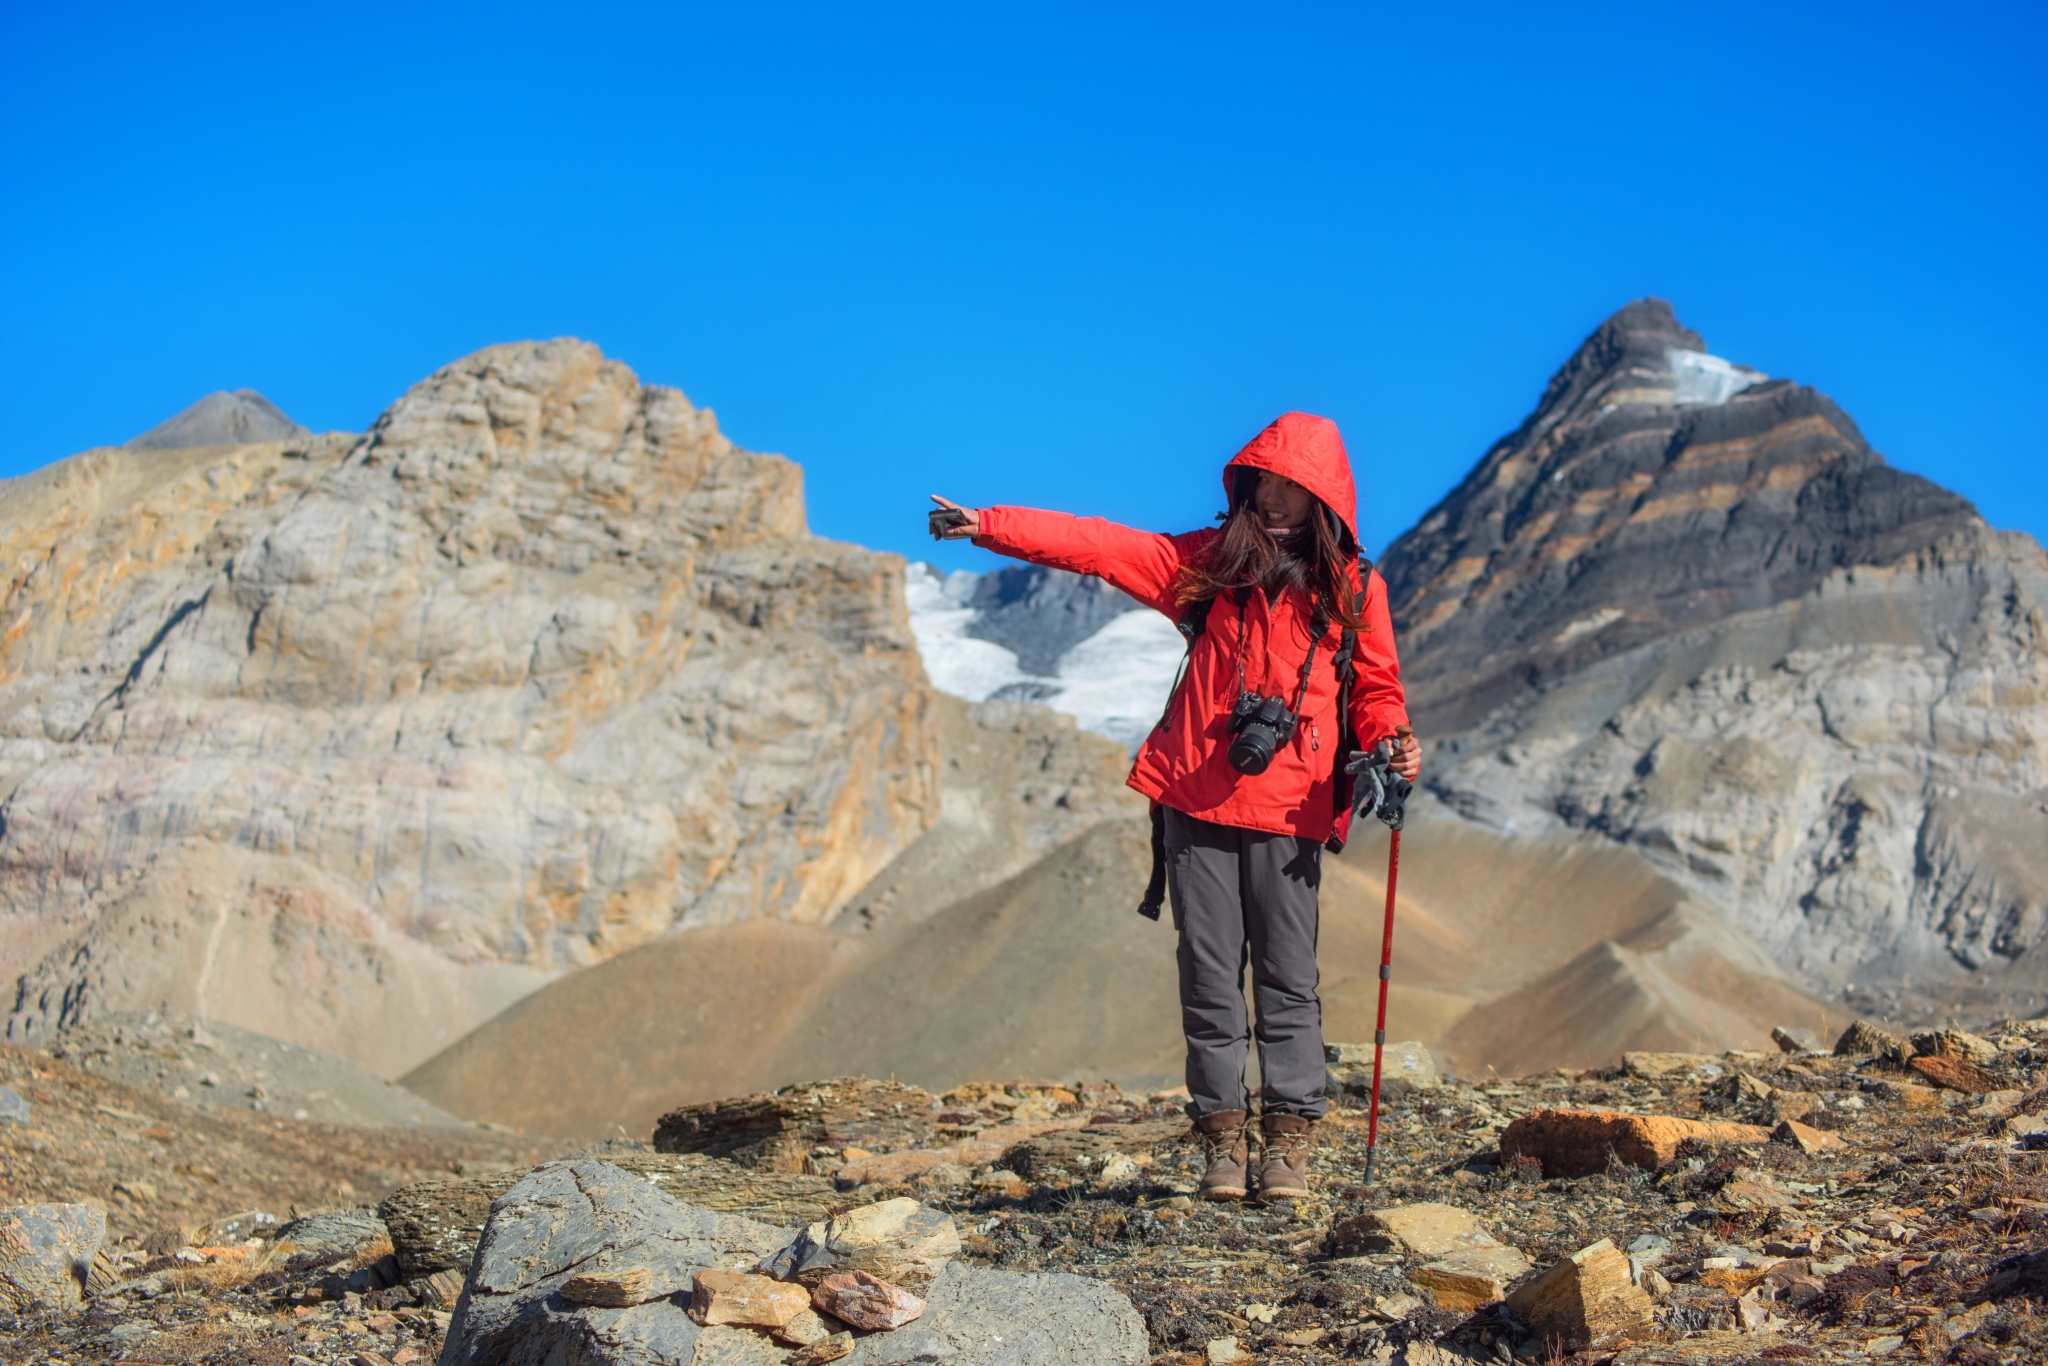
<svg viewBox="0 0 2048 1366"><path fill-rule="evenodd" d="M1812 989L2048 985L2048 557L1655 299L1382 565L1427 782L1620 840Z"/></svg>

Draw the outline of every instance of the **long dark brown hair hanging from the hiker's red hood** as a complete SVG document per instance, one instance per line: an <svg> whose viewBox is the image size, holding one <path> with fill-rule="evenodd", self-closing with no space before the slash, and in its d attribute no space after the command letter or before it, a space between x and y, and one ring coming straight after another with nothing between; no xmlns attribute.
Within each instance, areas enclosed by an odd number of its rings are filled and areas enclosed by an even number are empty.
<svg viewBox="0 0 2048 1366"><path fill-rule="evenodd" d="M1174 604L1188 608L1249 584L1264 588L1268 600L1298 588L1315 604L1315 618L1325 623L1321 631L1327 631L1331 621L1362 631L1364 621L1352 602L1358 590L1352 588L1350 575L1350 567L1358 563L1358 541L1337 514L1315 498L1294 547L1280 549L1253 506L1260 473L1249 467L1231 473L1231 510L1225 514L1223 535L1210 541L1198 559L1182 565L1174 578Z"/></svg>

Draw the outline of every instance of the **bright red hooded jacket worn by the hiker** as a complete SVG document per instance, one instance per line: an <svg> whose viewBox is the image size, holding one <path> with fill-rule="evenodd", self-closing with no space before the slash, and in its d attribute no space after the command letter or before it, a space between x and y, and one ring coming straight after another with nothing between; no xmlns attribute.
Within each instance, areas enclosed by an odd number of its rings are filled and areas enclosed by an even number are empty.
<svg viewBox="0 0 2048 1366"><path fill-rule="evenodd" d="M1229 492L1233 467L1270 469L1323 500L1358 537L1358 494L1352 461L1343 453L1337 424L1309 414L1282 414L1251 444L1223 467ZM981 508L975 545L999 555L1028 559L1073 573L1096 573L1149 608L1180 621L1174 578L1202 553L1219 530L1190 530L1163 537L1130 530L1116 522L1034 508ZM1352 571L1356 584L1356 569ZM1358 633L1358 676L1352 684L1352 731L1358 748L1407 725L1401 694L1401 661L1395 657L1395 629L1386 616L1386 584L1368 573L1364 629ZM1309 651L1309 598L1288 590L1278 602L1253 588L1239 610L1235 594L1219 594L1208 625L1194 641L1188 674L1167 702L1165 715L1145 739L1130 766L1130 786L1153 801L1221 825L1272 834L1339 840L1350 831L1350 809L1331 819L1331 784L1337 764L1337 670L1341 627L1331 625L1315 645L1309 696L1300 707L1294 737L1274 756L1266 772L1249 776L1231 768L1229 717L1237 700L1239 631L1243 631L1245 688L1278 694L1288 705L1300 686L1300 661Z"/></svg>

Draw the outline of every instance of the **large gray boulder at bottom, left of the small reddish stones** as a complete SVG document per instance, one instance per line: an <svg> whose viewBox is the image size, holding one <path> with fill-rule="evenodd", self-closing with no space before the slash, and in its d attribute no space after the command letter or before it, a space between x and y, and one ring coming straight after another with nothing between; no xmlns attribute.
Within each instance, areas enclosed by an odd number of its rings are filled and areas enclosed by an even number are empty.
<svg viewBox="0 0 2048 1366"><path fill-rule="evenodd" d="M696 1272L752 1264L786 1237L684 1204L608 1161L535 1167L492 1206L440 1366L682 1366L709 1331L688 1315ZM561 1292L573 1276L625 1268L647 1272L647 1303L604 1309Z"/></svg>

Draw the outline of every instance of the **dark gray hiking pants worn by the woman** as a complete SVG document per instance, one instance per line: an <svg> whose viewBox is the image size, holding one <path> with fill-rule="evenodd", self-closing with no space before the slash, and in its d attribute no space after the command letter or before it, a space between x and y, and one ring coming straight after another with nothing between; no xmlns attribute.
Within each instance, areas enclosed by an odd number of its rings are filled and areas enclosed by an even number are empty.
<svg viewBox="0 0 2048 1366"><path fill-rule="evenodd" d="M1323 1118L1323 1001L1315 989L1323 846L1165 811L1165 877L1180 930L1180 1028L1194 1116L1249 1110L1245 965L1257 1006L1266 1114Z"/></svg>

